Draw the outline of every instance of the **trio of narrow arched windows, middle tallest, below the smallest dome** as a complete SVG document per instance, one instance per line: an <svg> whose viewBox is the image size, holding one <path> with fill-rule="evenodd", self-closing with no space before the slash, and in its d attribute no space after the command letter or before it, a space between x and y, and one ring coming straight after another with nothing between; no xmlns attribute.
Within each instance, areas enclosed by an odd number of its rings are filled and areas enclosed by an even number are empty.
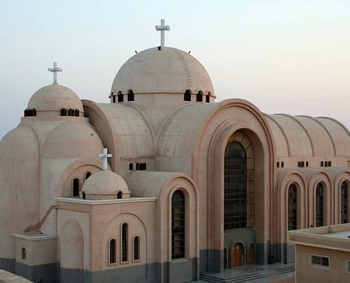
<svg viewBox="0 0 350 283"><path fill-rule="evenodd" d="M121 262L128 262L129 261L129 227L127 223L122 224L122 233L120 238L122 239L122 245L121 245ZM134 236L132 239L132 260L140 260L140 238L139 236ZM114 265L117 263L117 241L115 238L110 239L108 243L108 263L110 265Z"/></svg>

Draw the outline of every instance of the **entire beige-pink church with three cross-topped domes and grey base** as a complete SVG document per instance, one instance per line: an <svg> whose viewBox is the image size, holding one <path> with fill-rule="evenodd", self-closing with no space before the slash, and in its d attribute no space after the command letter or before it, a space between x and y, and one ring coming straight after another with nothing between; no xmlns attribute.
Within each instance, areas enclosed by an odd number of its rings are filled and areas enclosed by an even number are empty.
<svg viewBox="0 0 350 283"><path fill-rule="evenodd" d="M54 83L0 141L0 269L33 282L189 282L293 262L287 231L349 221L350 134L216 102L191 54L117 71L110 103Z"/></svg>

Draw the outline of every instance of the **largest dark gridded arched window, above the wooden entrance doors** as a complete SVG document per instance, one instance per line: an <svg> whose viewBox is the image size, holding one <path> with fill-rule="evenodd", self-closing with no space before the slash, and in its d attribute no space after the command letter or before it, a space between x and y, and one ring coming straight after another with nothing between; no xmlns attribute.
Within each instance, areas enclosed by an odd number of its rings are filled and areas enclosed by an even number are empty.
<svg viewBox="0 0 350 283"><path fill-rule="evenodd" d="M247 226L247 157L238 141L226 146L224 162L224 229Z"/></svg>

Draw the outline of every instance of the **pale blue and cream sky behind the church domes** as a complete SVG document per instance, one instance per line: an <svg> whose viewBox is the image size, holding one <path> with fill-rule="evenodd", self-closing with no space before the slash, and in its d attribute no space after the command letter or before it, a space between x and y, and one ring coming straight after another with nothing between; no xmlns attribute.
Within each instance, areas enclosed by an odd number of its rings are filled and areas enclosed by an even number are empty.
<svg viewBox="0 0 350 283"><path fill-rule="evenodd" d="M60 84L108 103L119 67L159 45L161 18L165 45L202 62L217 101L350 127L349 0L0 0L0 139L52 83L52 62Z"/></svg>

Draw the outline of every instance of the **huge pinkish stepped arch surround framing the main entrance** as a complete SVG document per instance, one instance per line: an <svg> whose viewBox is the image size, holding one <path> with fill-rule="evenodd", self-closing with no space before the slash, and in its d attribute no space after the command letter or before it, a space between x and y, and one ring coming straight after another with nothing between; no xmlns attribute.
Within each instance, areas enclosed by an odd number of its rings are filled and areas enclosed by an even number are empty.
<svg viewBox="0 0 350 283"><path fill-rule="evenodd" d="M274 141L271 129L255 105L241 99L224 100L204 120L192 172L200 190L201 271L223 270L223 160L228 139L243 132L255 152L255 231L257 262L266 263L274 243ZM204 167L205 164L205 167ZM202 209L206 209L202 211ZM203 216L202 216L203 215Z"/></svg>

